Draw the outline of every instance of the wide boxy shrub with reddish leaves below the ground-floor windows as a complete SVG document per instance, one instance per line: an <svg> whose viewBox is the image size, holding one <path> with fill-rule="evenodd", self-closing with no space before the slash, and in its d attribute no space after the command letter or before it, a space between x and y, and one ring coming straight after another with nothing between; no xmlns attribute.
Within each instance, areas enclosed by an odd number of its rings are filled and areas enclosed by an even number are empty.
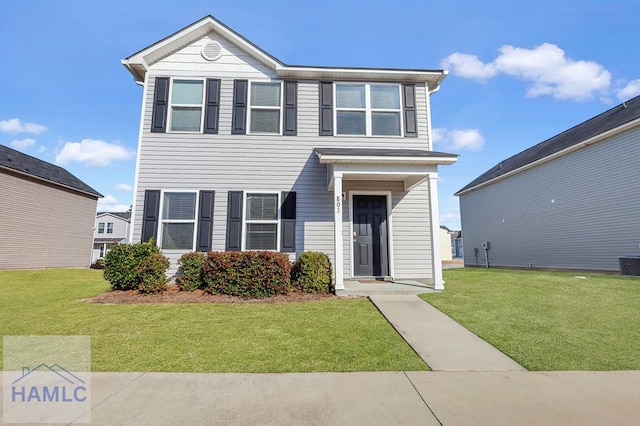
<svg viewBox="0 0 640 426"><path fill-rule="evenodd" d="M209 252L203 268L204 289L239 297L268 297L289 291L291 264L284 253Z"/></svg>

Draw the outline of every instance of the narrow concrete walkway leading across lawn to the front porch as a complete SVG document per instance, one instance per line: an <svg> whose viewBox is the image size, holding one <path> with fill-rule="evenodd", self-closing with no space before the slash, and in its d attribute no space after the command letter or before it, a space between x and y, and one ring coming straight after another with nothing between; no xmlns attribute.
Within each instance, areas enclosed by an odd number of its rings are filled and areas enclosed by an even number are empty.
<svg viewBox="0 0 640 426"><path fill-rule="evenodd" d="M433 371L524 371L418 296L371 295L369 299Z"/></svg>

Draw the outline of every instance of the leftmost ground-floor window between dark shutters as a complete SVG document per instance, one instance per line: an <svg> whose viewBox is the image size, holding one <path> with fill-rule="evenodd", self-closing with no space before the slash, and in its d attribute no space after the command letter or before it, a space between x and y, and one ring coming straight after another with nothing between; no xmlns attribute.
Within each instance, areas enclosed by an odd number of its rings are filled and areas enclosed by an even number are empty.
<svg viewBox="0 0 640 426"><path fill-rule="evenodd" d="M160 248L193 250L196 223L195 192L165 192L162 200Z"/></svg>

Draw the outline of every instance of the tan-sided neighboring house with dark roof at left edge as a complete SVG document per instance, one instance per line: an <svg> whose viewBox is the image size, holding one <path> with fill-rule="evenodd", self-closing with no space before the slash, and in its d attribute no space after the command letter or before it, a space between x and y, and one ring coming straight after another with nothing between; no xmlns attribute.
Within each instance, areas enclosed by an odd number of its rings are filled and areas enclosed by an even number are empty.
<svg viewBox="0 0 640 426"><path fill-rule="evenodd" d="M88 267L99 197L65 169L0 145L0 269Z"/></svg>

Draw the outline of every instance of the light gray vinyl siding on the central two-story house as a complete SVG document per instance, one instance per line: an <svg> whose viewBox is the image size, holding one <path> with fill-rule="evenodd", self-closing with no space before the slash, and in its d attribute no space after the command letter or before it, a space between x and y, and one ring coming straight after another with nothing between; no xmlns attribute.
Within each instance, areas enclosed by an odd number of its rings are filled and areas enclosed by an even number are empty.
<svg viewBox="0 0 640 426"><path fill-rule="evenodd" d="M215 38L215 36L209 36ZM327 166L313 153L316 147L341 148L414 148L429 149L427 138L426 88L416 87L418 138L400 137L320 137L318 81L298 82L298 134L232 135L232 97L234 79L268 79L275 75L261 63L234 51L239 56L222 62L208 62L198 57L199 40L189 48L155 64L148 73L144 92L146 109L142 118L142 140L139 148L137 192L134 199L133 242L139 242L143 214L144 191L214 190L213 250L225 249L227 193L229 191L295 191L296 248L318 250L333 261L333 193L327 188ZM240 59L238 59L240 58ZM193 62L190 62L193 61ZM195 63L195 65L194 65ZM189 70L186 72L185 70ZM151 113L155 77L220 78L220 128L217 135L197 133L151 133ZM344 182L345 188L372 189L370 182ZM426 184L425 184L426 185ZM404 277L430 278L430 225L428 185L405 194L399 182L377 185L376 190L393 188L394 250L396 272ZM346 190L346 189L345 189ZM349 216L344 209L345 276L349 276ZM395 217L395 216L394 216ZM400 222L407 219L410 225ZM424 223L421 221L424 220ZM395 235L397 226L397 235ZM417 226L416 229L410 227ZM423 250L424 248L424 250ZM170 273L184 252L164 251L171 261Z"/></svg>

